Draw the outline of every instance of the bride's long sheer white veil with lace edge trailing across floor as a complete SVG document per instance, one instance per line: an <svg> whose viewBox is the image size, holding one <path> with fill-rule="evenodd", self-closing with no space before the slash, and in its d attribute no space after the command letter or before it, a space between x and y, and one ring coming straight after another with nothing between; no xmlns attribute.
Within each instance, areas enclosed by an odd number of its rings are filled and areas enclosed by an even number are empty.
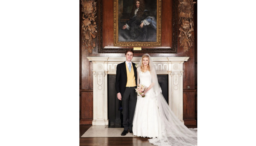
<svg viewBox="0 0 256 146"><path fill-rule="evenodd" d="M149 57L150 73L152 75L152 83L154 83L153 91L156 97L160 123L158 137L148 139L150 143L159 146L194 146L197 145L197 133L189 130L172 112L167 104L164 96L162 95L161 87L158 83L156 69L153 64L152 58L149 54L144 54ZM138 67L142 64L140 60Z"/></svg>

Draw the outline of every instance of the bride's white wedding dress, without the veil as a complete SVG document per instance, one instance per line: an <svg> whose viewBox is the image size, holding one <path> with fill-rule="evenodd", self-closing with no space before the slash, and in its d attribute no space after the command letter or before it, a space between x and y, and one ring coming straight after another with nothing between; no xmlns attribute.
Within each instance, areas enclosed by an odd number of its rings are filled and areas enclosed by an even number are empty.
<svg viewBox="0 0 256 146"><path fill-rule="evenodd" d="M150 72L139 71L137 73L139 74L140 84L149 87L152 83ZM156 98L153 94L153 88L151 88L145 94L145 97L137 97L132 124L133 135L150 138L158 137L160 118L158 117Z"/></svg>

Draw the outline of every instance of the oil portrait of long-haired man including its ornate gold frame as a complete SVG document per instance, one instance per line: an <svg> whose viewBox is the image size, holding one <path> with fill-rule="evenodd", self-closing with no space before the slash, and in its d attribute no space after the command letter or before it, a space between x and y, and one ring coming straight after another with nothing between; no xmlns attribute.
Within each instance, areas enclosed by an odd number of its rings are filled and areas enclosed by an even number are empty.
<svg viewBox="0 0 256 146"><path fill-rule="evenodd" d="M114 46L161 46L161 0L114 0Z"/></svg>

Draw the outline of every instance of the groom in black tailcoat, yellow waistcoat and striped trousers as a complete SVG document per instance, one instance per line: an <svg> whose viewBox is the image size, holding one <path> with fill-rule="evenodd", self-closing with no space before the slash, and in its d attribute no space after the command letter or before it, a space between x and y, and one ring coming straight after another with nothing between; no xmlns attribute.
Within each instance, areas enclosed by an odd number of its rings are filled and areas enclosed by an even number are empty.
<svg viewBox="0 0 256 146"><path fill-rule="evenodd" d="M132 133L132 121L135 112L137 95L137 70L135 63L132 63L134 51L128 49L125 52L126 61L117 65L117 76L115 78L115 89L117 98L122 102L124 131L121 136L125 136L130 129Z"/></svg>

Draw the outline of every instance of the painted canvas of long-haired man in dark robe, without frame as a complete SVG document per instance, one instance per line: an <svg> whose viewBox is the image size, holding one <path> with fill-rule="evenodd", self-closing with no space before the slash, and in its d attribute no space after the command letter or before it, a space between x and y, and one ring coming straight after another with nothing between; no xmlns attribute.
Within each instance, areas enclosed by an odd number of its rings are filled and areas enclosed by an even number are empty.
<svg viewBox="0 0 256 146"><path fill-rule="evenodd" d="M156 0L118 1L118 42L156 42Z"/></svg>

